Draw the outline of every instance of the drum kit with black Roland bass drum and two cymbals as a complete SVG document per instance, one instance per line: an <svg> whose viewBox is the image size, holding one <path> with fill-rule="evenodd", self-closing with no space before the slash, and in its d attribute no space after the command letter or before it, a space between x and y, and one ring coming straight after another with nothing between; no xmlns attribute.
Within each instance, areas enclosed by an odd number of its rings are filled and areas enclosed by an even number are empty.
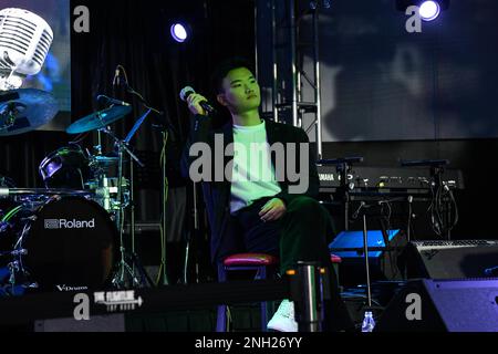
<svg viewBox="0 0 498 354"><path fill-rule="evenodd" d="M124 212L133 198L123 174L125 154L142 163L128 147L131 136L120 140L110 128L131 112L131 106L111 105L66 129L98 132L98 138L107 134L115 155L103 155L101 146L96 154L77 144L63 146L39 166L45 188L15 188L0 176L0 292L144 284L145 274L129 266L123 240ZM56 113L56 101L46 92L0 92L0 137L34 131Z"/></svg>

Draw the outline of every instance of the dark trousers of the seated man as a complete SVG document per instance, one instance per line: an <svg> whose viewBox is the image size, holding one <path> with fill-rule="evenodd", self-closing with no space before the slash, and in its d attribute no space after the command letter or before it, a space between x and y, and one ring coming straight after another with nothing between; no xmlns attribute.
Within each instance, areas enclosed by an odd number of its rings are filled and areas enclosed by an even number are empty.
<svg viewBox="0 0 498 354"><path fill-rule="evenodd" d="M325 330L350 330L353 325L341 300L330 260L329 243L334 235L329 212L317 200L302 196L287 206L287 214L280 220L263 222L259 212L269 199L260 199L232 216L240 233L231 235L232 240L228 243L238 251L278 256L281 274L294 268L298 261L318 261L326 267L331 280L331 301L325 303L326 313L330 313L325 319ZM230 253L234 254L234 250Z"/></svg>

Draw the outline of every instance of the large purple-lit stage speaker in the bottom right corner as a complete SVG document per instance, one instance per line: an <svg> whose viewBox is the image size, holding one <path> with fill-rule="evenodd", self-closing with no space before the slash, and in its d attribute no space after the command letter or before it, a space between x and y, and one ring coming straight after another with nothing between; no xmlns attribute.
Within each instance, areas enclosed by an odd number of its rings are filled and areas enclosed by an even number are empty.
<svg viewBox="0 0 498 354"><path fill-rule="evenodd" d="M498 332L498 279L411 280L375 332Z"/></svg>

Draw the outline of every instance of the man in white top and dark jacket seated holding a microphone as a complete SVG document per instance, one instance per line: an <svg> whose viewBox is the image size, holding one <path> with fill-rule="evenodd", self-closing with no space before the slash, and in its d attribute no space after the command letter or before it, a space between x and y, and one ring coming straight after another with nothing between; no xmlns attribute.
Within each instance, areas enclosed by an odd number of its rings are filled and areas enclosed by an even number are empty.
<svg viewBox="0 0 498 354"><path fill-rule="evenodd" d="M249 67L243 60L231 59L215 72L217 101L231 115L222 129L212 129L204 96L187 98L195 117L183 171L203 180L212 261L218 264L239 252L268 253L280 258L281 274L298 261L320 262L332 280L326 329L350 329L328 248L331 219L314 199L319 178L308 136L301 128L260 117L260 87ZM209 148L206 155L211 160L199 170L203 147ZM268 329L298 331L293 302L282 301Z"/></svg>

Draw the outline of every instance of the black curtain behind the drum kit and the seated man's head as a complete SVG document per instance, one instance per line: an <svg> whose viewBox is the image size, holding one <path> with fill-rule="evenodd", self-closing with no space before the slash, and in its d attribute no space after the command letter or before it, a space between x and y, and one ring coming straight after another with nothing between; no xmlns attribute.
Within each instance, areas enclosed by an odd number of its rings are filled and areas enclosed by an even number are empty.
<svg viewBox="0 0 498 354"><path fill-rule="evenodd" d="M90 10L90 33L72 32L72 122L97 110L97 94L115 96L133 104L133 112L112 124L113 133L124 138L145 108L123 87L113 86L115 69L125 67L129 85L149 105L164 112L151 114L131 145L147 167L137 168L137 216L157 220L160 215L159 152L162 135L154 125L170 123L167 146L170 187L186 184L179 176L178 156L189 127L189 114L178 94L191 85L214 98L209 75L218 62L231 55L255 58L253 3L239 0L189 1L71 1ZM76 17L71 17L71 22ZM169 34L174 19L189 23L191 38L176 43ZM72 23L71 23L72 25ZM96 133L77 137L83 147L96 145ZM38 173L41 160L51 152L76 139L64 132L32 132L0 138L0 175L18 187L42 187ZM113 153L111 139L103 139L105 154Z"/></svg>

